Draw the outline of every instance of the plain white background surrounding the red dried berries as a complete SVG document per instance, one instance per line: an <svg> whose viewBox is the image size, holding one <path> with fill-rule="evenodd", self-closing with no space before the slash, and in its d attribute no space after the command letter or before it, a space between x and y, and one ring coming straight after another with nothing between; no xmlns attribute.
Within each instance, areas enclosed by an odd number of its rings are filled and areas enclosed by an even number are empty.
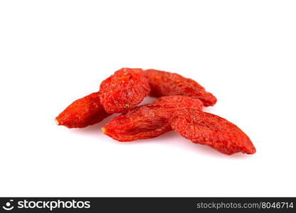
<svg viewBox="0 0 296 213"><path fill-rule="evenodd" d="M1 196L296 196L295 1L1 1ZM218 98L255 155L56 126L121 67ZM145 102L152 101L152 98Z"/></svg>

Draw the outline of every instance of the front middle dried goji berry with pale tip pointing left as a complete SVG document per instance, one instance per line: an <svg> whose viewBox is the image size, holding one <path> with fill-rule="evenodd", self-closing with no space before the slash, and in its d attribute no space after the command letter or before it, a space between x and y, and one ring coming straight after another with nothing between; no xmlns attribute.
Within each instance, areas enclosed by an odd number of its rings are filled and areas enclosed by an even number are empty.
<svg viewBox="0 0 296 213"><path fill-rule="evenodd" d="M137 107L112 119L102 132L117 141L155 138L171 131L169 119L178 108L202 109L199 99L190 97L161 97L151 104Z"/></svg>

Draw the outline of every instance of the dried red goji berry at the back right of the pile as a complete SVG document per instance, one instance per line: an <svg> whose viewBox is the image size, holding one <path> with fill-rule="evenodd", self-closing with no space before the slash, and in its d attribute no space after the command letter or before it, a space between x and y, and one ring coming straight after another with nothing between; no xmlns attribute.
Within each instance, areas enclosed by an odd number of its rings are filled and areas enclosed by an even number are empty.
<svg viewBox="0 0 296 213"><path fill-rule="evenodd" d="M200 84L189 78L172 72L160 70L144 70L151 88L152 97L183 95L200 99L204 107L213 106L217 99L206 92Z"/></svg>

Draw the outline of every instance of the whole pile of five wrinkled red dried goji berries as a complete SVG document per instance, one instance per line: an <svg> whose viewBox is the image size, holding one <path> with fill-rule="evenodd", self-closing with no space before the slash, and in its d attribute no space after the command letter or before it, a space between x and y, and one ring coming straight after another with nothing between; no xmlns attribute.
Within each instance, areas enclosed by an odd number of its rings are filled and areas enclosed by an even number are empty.
<svg viewBox="0 0 296 213"><path fill-rule="evenodd" d="M137 106L148 95L154 102ZM200 84L176 73L122 68L100 84L100 91L76 100L56 117L58 125L83 128L118 114L102 133L117 141L155 138L174 130L221 153L255 153L238 126L202 111L217 99Z"/></svg>

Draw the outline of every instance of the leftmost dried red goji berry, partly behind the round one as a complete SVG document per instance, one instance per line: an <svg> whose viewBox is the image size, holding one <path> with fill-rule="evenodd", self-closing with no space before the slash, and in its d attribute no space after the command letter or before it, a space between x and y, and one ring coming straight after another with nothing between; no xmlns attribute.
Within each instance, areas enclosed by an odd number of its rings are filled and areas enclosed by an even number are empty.
<svg viewBox="0 0 296 213"><path fill-rule="evenodd" d="M56 123L68 128L83 128L97 124L109 115L100 104L99 92L94 92L70 104L56 117Z"/></svg>

